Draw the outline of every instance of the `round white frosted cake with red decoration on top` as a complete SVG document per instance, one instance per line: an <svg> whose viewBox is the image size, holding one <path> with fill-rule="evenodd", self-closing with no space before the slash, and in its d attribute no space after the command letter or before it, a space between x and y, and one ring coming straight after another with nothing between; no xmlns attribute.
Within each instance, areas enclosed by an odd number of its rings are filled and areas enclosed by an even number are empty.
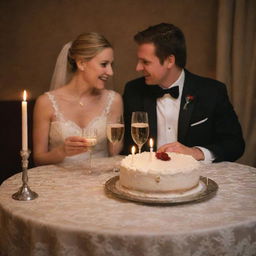
<svg viewBox="0 0 256 256"><path fill-rule="evenodd" d="M162 156L165 160L158 159L154 152L125 157L121 161L119 185L144 193L184 193L198 186L200 163L197 160L178 153Z"/></svg>

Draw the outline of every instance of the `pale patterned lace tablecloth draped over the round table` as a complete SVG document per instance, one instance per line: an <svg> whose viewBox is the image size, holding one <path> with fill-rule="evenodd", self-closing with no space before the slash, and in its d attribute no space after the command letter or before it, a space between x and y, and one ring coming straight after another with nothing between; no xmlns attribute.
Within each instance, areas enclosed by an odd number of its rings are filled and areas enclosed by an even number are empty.
<svg viewBox="0 0 256 256"><path fill-rule="evenodd" d="M104 183L120 158L30 169L33 201L11 195L21 174L0 187L2 255L256 255L256 169L235 163L205 166L215 197L200 203L149 206L107 196Z"/></svg>

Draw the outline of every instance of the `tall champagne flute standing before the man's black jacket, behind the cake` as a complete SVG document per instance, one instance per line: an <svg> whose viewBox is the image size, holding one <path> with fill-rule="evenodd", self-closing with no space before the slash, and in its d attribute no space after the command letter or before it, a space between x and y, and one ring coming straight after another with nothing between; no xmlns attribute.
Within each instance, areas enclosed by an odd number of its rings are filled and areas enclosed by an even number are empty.
<svg viewBox="0 0 256 256"><path fill-rule="evenodd" d="M139 153L141 153L141 148L147 141L149 135L147 112L138 111L132 113L131 134L133 141L139 148Z"/></svg>

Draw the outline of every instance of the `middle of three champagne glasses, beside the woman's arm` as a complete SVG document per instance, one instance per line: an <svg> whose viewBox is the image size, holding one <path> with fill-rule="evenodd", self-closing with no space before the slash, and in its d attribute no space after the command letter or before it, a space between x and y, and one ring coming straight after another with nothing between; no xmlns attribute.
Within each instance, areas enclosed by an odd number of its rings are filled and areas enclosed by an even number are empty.
<svg viewBox="0 0 256 256"><path fill-rule="evenodd" d="M124 137L124 120L123 116L119 116L107 123L107 138L113 145L122 141ZM118 172L118 168L113 168L114 172Z"/></svg>

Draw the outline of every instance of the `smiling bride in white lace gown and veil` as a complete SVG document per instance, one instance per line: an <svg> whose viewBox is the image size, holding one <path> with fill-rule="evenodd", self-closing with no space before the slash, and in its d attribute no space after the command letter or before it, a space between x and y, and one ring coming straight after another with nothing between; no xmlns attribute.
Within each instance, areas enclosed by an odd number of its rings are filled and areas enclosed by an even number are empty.
<svg viewBox="0 0 256 256"><path fill-rule="evenodd" d="M122 143L113 146L106 138L107 121L123 112L121 96L105 89L113 75L112 63L112 46L98 33L79 35L63 48L52 80L54 90L41 95L34 108L33 157L37 165L88 158L88 142L82 137L88 129L97 129L94 157L121 151ZM72 77L65 84L61 80L67 66Z"/></svg>

